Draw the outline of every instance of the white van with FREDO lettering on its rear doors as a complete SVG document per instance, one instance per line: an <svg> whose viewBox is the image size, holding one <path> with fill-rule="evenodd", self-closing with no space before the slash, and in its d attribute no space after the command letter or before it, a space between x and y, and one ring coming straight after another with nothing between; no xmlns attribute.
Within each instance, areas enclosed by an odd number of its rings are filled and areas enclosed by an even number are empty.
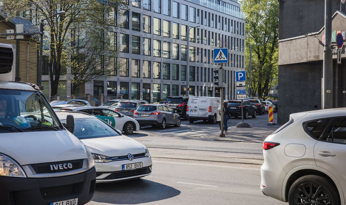
<svg viewBox="0 0 346 205"><path fill-rule="evenodd" d="M221 99L217 97L190 97L186 108L186 115L188 116L189 122L193 123L202 119L203 121L208 120L210 123L215 124L220 101Z"/></svg>

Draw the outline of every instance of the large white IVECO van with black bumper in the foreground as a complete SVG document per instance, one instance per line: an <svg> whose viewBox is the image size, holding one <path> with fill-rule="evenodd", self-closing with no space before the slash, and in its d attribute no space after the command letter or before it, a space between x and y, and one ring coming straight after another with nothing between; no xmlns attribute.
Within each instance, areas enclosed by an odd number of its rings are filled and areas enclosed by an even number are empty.
<svg viewBox="0 0 346 205"><path fill-rule="evenodd" d="M96 170L89 149L71 133L73 116L69 132L36 85L1 81L12 80L14 56L12 45L0 44L0 204L88 203Z"/></svg>

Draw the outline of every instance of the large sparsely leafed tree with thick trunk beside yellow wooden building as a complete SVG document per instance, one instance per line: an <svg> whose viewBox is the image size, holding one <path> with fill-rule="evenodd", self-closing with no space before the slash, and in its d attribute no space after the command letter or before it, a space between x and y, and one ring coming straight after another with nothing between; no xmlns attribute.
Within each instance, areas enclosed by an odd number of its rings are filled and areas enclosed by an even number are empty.
<svg viewBox="0 0 346 205"><path fill-rule="evenodd" d="M52 96L57 94L61 76L67 74L67 68L76 64L76 61L72 60L73 53L71 51L73 51L72 47L74 45L71 44L71 29L75 28L75 25L80 25L87 30L98 28L105 33L117 29L115 11L124 1L112 1L112 6L100 2L108 1L3 0L3 5L9 11L9 17L16 16L18 12L23 12L28 18L46 19L45 31L48 32L45 35L49 37L45 39L45 42L49 50L46 50L44 54L49 56L49 78ZM53 16L58 11L65 11L65 14ZM92 39L99 41L97 38ZM84 68L89 69L86 66Z"/></svg>

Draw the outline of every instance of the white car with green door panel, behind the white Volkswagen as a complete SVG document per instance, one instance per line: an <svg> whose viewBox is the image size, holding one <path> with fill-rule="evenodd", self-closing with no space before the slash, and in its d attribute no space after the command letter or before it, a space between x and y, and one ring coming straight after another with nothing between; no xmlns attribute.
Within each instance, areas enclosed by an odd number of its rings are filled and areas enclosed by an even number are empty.
<svg viewBox="0 0 346 205"><path fill-rule="evenodd" d="M125 134L132 134L134 131L139 131L139 124L135 119L118 113L114 109L106 107L69 107L61 109L61 111L66 110L84 112L98 117Z"/></svg>

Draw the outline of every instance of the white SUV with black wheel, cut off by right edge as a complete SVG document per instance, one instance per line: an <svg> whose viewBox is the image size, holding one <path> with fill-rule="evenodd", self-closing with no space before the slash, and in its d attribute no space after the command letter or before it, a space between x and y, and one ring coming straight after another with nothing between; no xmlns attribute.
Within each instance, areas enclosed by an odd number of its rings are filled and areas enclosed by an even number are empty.
<svg viewBox="0 0 346 205"><path fill-rule="evenodd" d="M263 142L261 189L289 204L345 204L346 109L290 115Z"/></svg>

